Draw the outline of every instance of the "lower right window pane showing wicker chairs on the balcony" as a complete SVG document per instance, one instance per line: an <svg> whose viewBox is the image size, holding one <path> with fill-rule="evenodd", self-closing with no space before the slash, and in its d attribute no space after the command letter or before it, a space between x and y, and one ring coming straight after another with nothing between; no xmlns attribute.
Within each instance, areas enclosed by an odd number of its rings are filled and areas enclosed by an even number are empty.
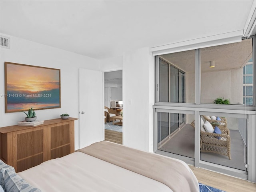
<svg viewBox="0 0 256 192"><path fill-rule="evenodd" d="M200 160L246 171L246 119L201 116L200 130Z"/></svg>

